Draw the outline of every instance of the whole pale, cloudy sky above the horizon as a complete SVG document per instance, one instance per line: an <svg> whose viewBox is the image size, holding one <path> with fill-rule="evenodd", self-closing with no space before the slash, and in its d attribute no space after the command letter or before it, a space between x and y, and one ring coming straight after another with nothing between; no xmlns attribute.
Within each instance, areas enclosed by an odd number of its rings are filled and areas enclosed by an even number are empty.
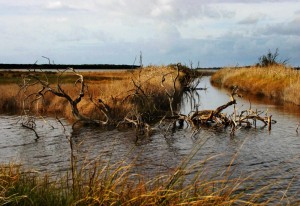
<svg viewBox="0 0 300 206"><path fill-rule="evenodd" d="M300 0L0 0L0 63L300 65Z"/></svg>

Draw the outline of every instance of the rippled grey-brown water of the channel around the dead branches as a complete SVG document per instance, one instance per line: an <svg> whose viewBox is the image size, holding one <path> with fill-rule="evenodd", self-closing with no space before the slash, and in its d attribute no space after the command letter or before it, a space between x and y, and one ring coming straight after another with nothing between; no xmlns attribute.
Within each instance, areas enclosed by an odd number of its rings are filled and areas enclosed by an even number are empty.
<svg viewBox="0 0 300 206"><path fill-rule="evenodd" d="M199 86L207 86L208 89L198 91L199 96L193 98L185 95L182 113L189 113L195 106L199 109L215 109L228 102L227 92L212 87L208 77L203 78ZM237 108L248 109L249 99L237 99ZM277 192L284 193L289 187L289 194L299 199L300 135L296 133L296 128L300 108L253 98L250 101L252 108L268 110L277 120L271 132L259 125L256 129L241 128L233 137L229 129L223 128L201 128L197 132L184 128L164 136L165 127L155 126L151 137L136 142L132 130L120 132L79 127L72 131L67 122L62 120L66 125L64 131L55 119L47 118L47 123L44 120L37 121L37 132L41 138L35 141L32 131L17 123L18 117L1 115L0 162L21 162L41 172L66 171L70 164L67 137L72 136L77 145L76 155L81 159L134 162L138 166L137 172L152 176L157 172L172 171L197 151L189 159L191 163L199 162L199 165L205 162L201 168L204 174L221 177L232 165L232 176L251 174L256 179L256 186L273 182L274 191ZM232 112L232 109L227 112Z"/></svg>

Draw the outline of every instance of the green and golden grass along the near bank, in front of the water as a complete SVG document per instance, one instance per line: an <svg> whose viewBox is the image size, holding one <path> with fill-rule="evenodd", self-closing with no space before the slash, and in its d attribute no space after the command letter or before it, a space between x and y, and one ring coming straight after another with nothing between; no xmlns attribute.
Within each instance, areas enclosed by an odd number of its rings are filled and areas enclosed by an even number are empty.
<svg viewBox="0 0 300 206"><path fill-rule="evenodd" d="M133 169L134 165L125 162L94 163L77 171L72 180L68 175L53 180L47 175L25 171L18 165L1 165L0 204L265 205L274 201L273 197L262 198L269 187L255 188L254 184L243 187L247 178L234 179L225 175L210 180L202 177L201 170L178 167L170 174L149 180L134 174ZM187 175L192 172L194 175L188 180Z"/></svg>

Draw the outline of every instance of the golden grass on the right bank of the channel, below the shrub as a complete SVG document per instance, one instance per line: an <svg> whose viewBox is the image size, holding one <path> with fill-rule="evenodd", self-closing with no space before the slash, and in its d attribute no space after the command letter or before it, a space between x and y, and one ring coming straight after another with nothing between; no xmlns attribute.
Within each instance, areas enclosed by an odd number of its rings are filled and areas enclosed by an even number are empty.
<svg viewBox="0 0 300 206"><path fill-rule="evenodd" d="M285 65L224 68L211 77L213 85L300 105L300 72Z"/></svg>

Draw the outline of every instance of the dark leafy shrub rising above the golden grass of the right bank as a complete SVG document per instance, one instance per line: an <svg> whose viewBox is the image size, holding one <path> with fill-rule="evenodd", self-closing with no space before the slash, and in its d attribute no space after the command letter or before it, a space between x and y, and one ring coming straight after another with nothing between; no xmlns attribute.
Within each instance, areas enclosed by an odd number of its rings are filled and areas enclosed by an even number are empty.
<svg viewBox="0 0 300 206"><path fill-rule="evenodd" d="M267 54L259 57L259 62L257 63L257 66L268 67L274 65L285 65L288 59L285 59L283 61L278 60L278 56L279 56L278 48L275 50L274 53L271 52L271 50L269 50Z"/></svg>

